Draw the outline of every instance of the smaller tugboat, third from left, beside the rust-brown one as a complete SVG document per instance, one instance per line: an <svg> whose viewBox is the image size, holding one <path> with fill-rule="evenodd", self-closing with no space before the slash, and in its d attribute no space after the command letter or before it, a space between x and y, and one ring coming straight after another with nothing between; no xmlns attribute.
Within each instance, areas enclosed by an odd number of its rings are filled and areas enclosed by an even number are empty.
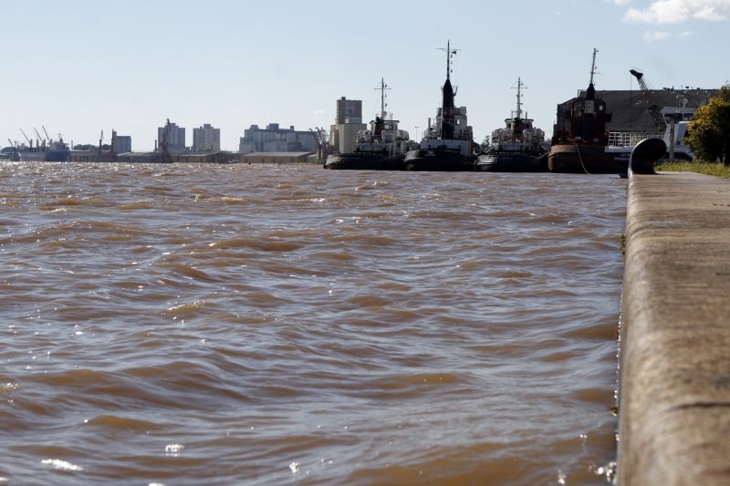
<svg viewBox="0 0 730 486"><path fill-rule="evenodd" d="M533 126L533 119L522 118L522 79L517 78L517 106L512 117L505 119L505 127L492 131L491 147L476 160L477 171L539 172L546 153L542 144L545 132Z"/></svg>

